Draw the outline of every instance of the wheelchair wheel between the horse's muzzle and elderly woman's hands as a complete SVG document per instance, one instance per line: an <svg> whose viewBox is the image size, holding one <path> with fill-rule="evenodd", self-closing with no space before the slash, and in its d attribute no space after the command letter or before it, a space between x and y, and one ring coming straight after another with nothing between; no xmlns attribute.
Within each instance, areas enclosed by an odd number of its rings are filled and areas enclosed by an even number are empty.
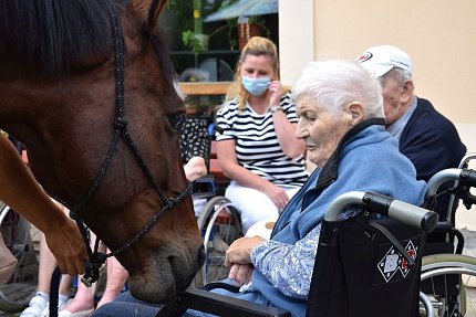
<svg viewBox="0 0 476 317"><path fill-rule="evenodd" d="M195 279L196 287L200 288L209 282L228 277L225 252L231 242L242 236L242 229L238 211L225 197L210 199L197 222L204 236L206 255L205 264Z"/></svg>

